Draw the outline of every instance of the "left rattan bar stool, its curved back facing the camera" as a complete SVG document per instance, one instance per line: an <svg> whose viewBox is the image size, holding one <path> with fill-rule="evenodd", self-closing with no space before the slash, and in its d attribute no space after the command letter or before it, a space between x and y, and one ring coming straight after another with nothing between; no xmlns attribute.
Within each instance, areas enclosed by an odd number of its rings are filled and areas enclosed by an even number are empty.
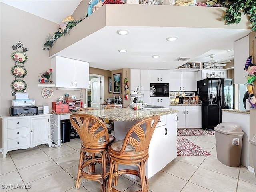
<svg viewBox="0 0 256 192"><path fill-rule="evenodd" d="M114 142L115 138L108 134L106 125L102 120L90 114L72 114L70 115L70 122L80 136L81 142L76 189L80 187L81 178L86 178L100 182L102 192L105 192L106 176L109 174L109 172L106 172L106 154L108 152L108 145ZM85 158L84 154L89 154L89 156ZM102 165L100 173L94 172L96 163ZM93 169L92 164L94 165ZM86 167L89 170L87 172L84 170Z"/></svg>

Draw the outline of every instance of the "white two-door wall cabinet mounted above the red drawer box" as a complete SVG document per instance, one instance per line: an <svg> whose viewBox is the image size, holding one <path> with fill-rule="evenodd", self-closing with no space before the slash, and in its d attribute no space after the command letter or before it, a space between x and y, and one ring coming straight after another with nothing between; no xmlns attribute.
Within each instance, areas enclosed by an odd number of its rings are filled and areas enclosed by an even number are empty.
<svg viewBox="0 0 256 192"><path fill-rule="evenodd" d="M88 62L55 56L52 58L52 81L56 87L89 88Z"/></svg>

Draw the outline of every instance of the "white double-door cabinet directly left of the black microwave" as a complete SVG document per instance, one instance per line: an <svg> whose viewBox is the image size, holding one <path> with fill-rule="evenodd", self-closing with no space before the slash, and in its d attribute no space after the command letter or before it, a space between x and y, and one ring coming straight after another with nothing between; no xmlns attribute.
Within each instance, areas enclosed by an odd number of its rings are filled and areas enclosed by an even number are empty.
<svg viewBox="0 0 256 192"><path fill-rule="evenodd" d="M132 92L136 90L136 87L139 87L141 91L150 91L149 69L131 69L130 75L130 90Z"/></svg>

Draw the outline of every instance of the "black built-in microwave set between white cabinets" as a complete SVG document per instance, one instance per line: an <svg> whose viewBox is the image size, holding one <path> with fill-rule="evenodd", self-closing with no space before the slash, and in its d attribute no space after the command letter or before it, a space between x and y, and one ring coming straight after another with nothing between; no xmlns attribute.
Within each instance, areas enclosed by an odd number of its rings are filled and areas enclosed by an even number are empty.
<svg viewBox="0 0 256 192"><path fill-rule="evenodd" d="M150 97L169 97L169 83L150 83Z"/></svg>

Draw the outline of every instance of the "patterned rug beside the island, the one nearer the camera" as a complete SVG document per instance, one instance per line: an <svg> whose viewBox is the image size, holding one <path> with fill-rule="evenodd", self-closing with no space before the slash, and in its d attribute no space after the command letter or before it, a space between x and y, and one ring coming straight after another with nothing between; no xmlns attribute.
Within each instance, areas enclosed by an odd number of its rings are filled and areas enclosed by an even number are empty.
<svg viewBox="0 0 256 192"><path fill-rule="evenodd" d="M186 138L177 138L177 156L212 155Z"/></svg>

